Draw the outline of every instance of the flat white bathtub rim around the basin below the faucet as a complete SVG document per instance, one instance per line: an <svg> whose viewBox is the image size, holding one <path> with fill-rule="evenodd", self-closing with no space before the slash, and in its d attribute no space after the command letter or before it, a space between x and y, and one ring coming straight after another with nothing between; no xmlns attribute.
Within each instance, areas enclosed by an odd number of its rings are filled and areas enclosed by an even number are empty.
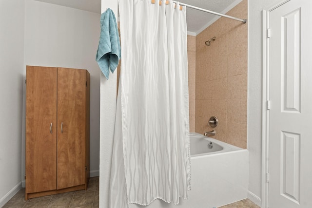
<svg viewBox="0 0 312 208"><path fill-rule="evenodd" d="M198 157L202 157L202 156L225 154L225 153L231 153L233 151L244 151L244 150L246 150L246 149L228 144L226 142L222 142L220 140L204 136L204 135L202 135L200 133L196 133L196 132L190 132L190 140L192 139L192 137L195 137L198 139L205 139L207 141L211 141L213 143L216 143L216 144L220 145L221 147L223 147L223 150L214 151L214 152L205 152L205 153L200 153L200 154L193 154L193 155L191 155L191 158L198 158Z"/></svg>

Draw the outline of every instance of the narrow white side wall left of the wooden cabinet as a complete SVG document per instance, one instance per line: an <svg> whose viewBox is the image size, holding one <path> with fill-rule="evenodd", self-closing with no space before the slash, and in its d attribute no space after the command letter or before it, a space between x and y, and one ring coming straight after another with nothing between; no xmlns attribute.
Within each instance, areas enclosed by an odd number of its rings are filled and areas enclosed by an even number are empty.
<svg viewBox="0 0 312 208"><path fill-rule="evenodd" d="M24 0L0 1L0 207L20 189Z"/></svg>

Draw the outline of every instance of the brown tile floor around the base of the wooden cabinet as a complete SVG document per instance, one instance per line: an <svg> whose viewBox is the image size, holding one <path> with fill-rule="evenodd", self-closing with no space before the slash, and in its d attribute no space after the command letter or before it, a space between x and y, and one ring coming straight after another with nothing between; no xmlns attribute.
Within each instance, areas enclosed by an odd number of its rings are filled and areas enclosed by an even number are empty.
<svg viewBox="0 0 312 208"><path fill-rule="evenodd" d="M25 200L21 189L2 208L98 208L98 177L89 180L87 190L77 190Z"/></svg>

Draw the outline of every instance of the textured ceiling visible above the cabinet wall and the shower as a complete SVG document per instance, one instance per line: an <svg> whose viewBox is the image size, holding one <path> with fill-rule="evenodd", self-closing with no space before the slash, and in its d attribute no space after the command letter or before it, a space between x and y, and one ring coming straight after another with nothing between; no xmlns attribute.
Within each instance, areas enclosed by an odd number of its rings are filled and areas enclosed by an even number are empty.
<svg viewBox="0 0 312 208"><path fill-rule="evenodd" d="M62 6L73 7L89 12L101 12L101 0L39 0L47 3L59 4ZM225 14L237 5L241 0L180 0L182 3L190 4L203 9ZM190 35L197 35L219 16L192 8L186 10L187 27ZM237 17L240 18L240 17Z"/></svg>

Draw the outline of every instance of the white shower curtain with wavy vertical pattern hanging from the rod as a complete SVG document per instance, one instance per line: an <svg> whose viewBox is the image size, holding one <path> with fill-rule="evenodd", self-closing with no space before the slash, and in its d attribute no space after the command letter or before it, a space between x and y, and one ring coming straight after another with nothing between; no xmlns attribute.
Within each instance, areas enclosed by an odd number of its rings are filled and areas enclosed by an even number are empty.
<svg viewBox="0 0 312 208"><path fill-rule="evenodd" d="M185 7L118 2L122 61L110 208L155 199L178 204L191 185Z"/></svg>

